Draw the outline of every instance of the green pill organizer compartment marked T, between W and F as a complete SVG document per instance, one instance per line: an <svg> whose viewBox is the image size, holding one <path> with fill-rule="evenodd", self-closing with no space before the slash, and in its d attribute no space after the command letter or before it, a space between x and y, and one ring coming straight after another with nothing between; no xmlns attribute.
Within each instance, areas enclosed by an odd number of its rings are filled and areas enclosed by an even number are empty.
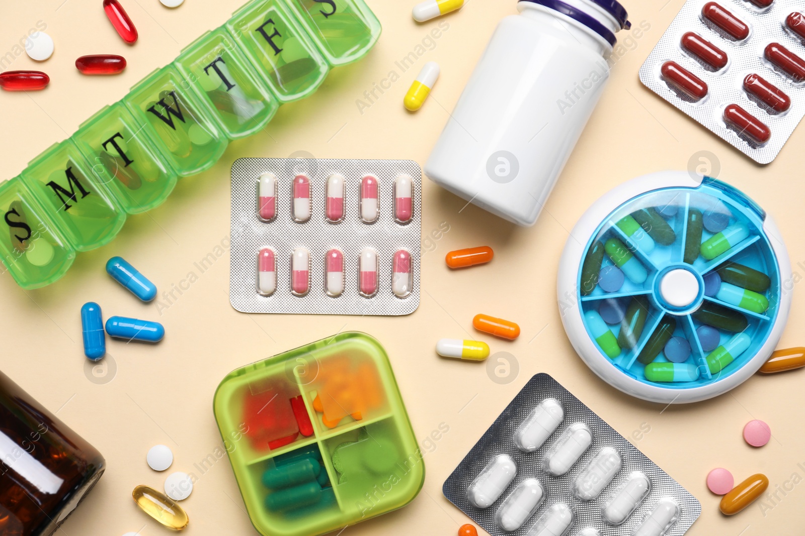
<svg viewBox="0 0 805 536"><path fill-rule="evenodd" d="M223 28L196 39L174 65L230 139L258 132L279 108L268 86L258 81L257 73Z"/></svg>

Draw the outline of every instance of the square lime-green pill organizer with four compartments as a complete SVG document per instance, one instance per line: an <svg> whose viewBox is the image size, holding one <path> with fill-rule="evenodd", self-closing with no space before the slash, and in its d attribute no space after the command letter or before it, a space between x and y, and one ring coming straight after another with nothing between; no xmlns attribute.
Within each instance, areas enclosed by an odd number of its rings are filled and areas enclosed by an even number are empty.
<svg viewBox="0 0 805 536"><path fill-rule="evenodd" d="M254 528L318 536L402 508L425 479L386 350L338 333L233 370L213 411Z"/></svg>

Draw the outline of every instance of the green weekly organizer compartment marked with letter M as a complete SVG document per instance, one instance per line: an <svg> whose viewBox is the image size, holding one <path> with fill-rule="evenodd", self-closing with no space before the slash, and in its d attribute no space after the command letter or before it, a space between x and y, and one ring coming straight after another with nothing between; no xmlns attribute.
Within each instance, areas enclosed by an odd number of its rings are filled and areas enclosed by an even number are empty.
<svg viewBox="0 0 805 536"><path fill-rule="evenodd" d="M45 215L79 252L109 243L126 223L106 186L97 182L84 155L69 139L28 163L21 175Z"/></svg>

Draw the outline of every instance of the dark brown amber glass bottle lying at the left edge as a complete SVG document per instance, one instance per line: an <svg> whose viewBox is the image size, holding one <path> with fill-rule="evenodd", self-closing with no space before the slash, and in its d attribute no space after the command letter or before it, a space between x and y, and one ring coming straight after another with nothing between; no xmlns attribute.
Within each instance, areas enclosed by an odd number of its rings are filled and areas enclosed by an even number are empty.
<svg viewBox="0 0 805 536"><path fill-rule="evenodd" d="M49 536L105 469L92 445L0 372L0 536Z"/></svg>

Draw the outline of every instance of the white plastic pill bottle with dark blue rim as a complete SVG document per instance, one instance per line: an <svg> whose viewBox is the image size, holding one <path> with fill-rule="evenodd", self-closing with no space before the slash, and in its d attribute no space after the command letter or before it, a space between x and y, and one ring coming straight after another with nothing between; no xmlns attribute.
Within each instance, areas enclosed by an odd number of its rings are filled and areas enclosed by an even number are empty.
<svg viewBox="0 0 805 536"><path fill-rule="evenodd" d="M534 225L609 79L615 0L520 0L497 26L425 174L478 207Z"/></svg>

